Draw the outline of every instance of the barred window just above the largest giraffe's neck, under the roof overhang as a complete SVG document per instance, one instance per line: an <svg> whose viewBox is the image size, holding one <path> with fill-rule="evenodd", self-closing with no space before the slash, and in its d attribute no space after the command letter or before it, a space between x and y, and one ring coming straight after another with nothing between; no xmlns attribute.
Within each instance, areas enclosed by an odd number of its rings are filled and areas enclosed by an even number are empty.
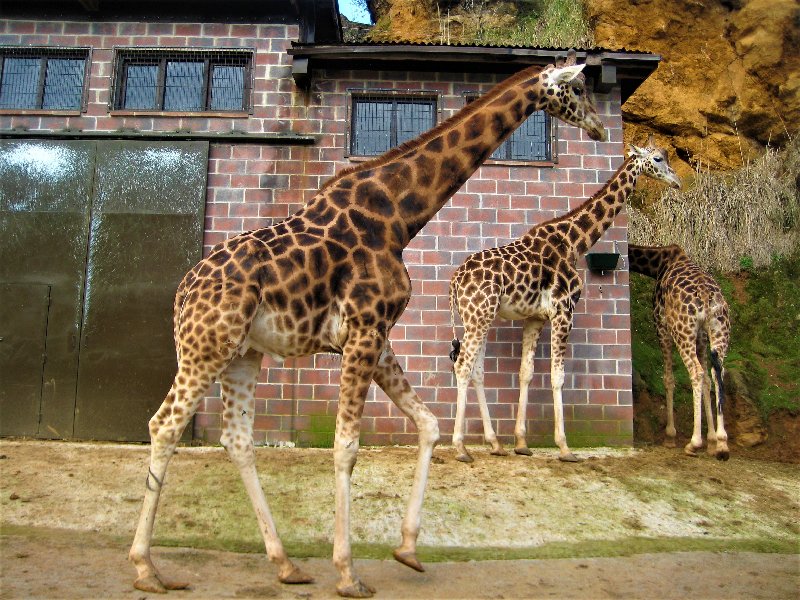
<svg viewBox="0 0 800 600"><path fill-rule="evenodd" d="M350 153L383 154L436 125L436 99L430 96L358 95L352 98Z"/></svg>

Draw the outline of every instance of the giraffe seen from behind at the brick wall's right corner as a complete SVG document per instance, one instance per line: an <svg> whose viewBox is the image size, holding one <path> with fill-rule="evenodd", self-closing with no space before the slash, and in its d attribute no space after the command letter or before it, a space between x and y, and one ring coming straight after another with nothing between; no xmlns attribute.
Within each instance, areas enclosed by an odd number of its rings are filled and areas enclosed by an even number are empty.
<svg viewBox="0 0 800 600"><path fill-rule="evenodd" d="M701 435L702 397L708 426L708 453L728 460L728 434L722 407L725 401L723 363L728 354L730 319L728 303L714 278L703 271L679 246L628 246L630 270L656 280L653 317L661 355L664 357L664 388L667 392L667 429L664 445L675 447L675 421L672 409L675 378L672 375L672 343L678 347L683 364L692 379L694 430L684 452L697 456L703 447ZM717 399L717 428L711 407L711 382L708 378L706 350L711 347L711 374Z"/></svg>

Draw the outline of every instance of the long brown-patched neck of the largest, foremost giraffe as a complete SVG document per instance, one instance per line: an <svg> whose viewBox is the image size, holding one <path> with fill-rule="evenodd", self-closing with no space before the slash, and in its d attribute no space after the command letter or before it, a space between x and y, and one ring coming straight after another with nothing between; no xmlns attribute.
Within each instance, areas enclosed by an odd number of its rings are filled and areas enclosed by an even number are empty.
<svg viewBox="0 0 800 600"><path fill-rule="evenodd" d="M540 70L517 73L429 132L342 171L317 198L380 214L390 221L393 245L405 247L531 113L553 100Z"/></svg>

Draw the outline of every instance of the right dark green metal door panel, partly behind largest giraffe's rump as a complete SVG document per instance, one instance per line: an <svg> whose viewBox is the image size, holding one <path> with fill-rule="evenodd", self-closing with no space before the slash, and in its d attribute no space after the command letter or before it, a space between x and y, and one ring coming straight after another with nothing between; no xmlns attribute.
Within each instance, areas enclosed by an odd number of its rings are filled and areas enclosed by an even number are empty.
<svg viewBox="0 0 800 600"><path fill-rule="evenodd" d="M202 255L207 164L206 142L99 144L77 438L149 439L176 370L175 290Z"/></svg>

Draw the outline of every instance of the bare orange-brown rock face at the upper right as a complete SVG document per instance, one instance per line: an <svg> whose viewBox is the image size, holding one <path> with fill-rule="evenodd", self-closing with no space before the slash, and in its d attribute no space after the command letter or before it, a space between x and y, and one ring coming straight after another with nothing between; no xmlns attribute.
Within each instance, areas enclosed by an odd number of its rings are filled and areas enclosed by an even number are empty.
<svg viewBox="0 0 800 600"><path fill-rule="evenodd" d="M667 138L692 166L736 168L800 123L796 0L587 0L595 43L654 52L623 106L626 138Z"/></svg>

